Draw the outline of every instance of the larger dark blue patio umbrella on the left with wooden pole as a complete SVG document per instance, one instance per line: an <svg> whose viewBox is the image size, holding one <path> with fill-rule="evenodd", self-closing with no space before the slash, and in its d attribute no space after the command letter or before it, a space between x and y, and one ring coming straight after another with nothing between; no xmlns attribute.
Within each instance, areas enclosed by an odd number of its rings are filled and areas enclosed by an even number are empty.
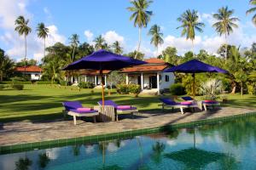
<svg viewBox="0 0 256 170"><path fill-rule="evenodd" d="M100 71L102 77L102 71L115 71L132 65L143 65L147 64L142 60L132 59L131 57L125 57L119 54L113 54L106 50L98 50L93 54L84 56L82 59L79 59L73 62L70 65L67 65L63 70L80 70L80 69L93 69ZM102 105L104 105L104 88L103 88L103 77L102 77Z"/></svg>

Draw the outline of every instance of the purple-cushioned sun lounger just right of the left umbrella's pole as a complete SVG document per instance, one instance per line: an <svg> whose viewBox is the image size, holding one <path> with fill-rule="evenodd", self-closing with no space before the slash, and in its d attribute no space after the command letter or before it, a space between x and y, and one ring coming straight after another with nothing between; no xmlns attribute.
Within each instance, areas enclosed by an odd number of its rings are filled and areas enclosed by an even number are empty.
<svg viewBox="0 0 256 170"><path fill-rule="evenodd" d="M102 101L99 101L98 104L102 105ZM113 100L105 100L104 104L113 106L117 121L119 120L119 115L131 114L133 116L133 113L137 112L136 107L133 107L131 105L117 105L116 103L113 102Z"/></svg>

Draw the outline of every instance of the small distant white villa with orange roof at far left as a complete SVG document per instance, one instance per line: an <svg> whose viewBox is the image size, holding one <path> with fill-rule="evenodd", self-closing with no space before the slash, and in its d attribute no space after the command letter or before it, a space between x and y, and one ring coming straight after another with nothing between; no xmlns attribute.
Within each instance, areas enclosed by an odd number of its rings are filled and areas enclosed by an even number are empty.
<svg viewBox="0 0 256 170"><path fill-rule="evenodd" d="M31 80L40 80L43 70L38 65L32 65L26 66L26 72L25 66L16 67L15 72L29 75Z"/></svg>

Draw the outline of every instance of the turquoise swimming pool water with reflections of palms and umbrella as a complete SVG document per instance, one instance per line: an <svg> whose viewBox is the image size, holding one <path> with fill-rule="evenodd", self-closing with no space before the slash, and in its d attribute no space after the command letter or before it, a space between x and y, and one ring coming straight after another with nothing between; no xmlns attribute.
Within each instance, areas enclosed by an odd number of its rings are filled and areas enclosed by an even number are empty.
<svg viewBox="0 0 256 170"><path fill-rule="evenodd" d="M0 169L256 169L256 116L0 156Z"/></svg>

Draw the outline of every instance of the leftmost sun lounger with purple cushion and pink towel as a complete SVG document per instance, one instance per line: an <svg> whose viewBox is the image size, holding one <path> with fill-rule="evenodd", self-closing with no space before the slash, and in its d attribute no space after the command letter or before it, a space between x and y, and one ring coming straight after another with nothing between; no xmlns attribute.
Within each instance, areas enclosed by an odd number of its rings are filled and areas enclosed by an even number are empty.
<svg viewBox="0 0 256 170"><path fill-rule="evenodd" d="M84 108L79 101L66 101L62 105L65 107L65 114L73 116L73 124L77 124L77 116L93 116L94 122L96 122L96 116L99 115L99 112L90 109Z"/></svg>

